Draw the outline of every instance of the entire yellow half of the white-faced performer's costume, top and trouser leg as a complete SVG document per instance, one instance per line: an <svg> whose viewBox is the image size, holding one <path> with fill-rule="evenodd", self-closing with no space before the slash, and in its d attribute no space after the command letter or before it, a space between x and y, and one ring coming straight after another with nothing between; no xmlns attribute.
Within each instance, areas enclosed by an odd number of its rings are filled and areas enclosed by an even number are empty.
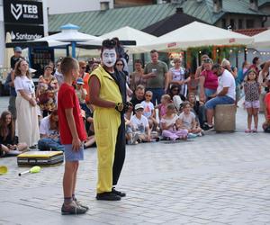
<svg viewBox="0 0 270 225"><path fill-rule="evenodd" d="M99 66L90 76L97 76L100 82L99 97L113 103L121 103L119 86L103 67ZM98 180L97 193L112 191L112 165L121 114L114 108L94 106L94 136L97 145Z"/></svg>

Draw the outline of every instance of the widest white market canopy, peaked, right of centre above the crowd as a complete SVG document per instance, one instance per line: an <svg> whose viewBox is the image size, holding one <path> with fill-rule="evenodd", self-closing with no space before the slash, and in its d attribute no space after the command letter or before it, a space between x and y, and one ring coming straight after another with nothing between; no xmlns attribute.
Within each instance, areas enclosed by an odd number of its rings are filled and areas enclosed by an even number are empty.
<svg viewBox="0 0 270 225"><path fill-rule="evenodd" d="M157 42L143 46L145 50L188 49L200 46L247 45L253 38L205 23L193 22L159 37ZM140 47L142 48L142 47Z"/></svg>

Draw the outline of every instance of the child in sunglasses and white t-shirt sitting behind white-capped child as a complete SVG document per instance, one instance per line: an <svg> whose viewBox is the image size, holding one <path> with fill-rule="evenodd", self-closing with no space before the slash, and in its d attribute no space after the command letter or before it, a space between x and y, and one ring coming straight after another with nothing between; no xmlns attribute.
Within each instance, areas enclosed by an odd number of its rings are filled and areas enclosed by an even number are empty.
<svg viewBox="0 0 270 225"><path fill-rule="evenodd" d="M141 104L144 107L143 115L148 118L150 130L158 130L155 107L154 104L151 103L152 96L153 93L151 91L147 91L145 93L145 101L142 101Z"/></svg>

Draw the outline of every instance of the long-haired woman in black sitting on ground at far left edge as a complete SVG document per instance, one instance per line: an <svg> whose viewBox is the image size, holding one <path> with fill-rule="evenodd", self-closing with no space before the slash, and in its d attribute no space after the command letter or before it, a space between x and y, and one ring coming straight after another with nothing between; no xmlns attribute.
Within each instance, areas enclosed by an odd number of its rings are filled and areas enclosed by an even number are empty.
<svg viewBox="0 0 270 225"><path fill-rule="evenodd" d="M4 111L0 117L0 155L16 156L27 150L26 143L18 143L15 137L14 121L11 112Z"/></svg>

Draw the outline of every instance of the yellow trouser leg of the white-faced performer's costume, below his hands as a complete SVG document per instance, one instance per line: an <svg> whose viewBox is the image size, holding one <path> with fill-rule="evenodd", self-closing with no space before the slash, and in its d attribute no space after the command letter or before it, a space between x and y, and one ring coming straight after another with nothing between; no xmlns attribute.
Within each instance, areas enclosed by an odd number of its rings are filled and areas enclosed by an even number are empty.
<svg viewBox="0 0 270 225"><path fill-rule="evenodd" d="M112 191L112 166L120 123L120 113L115 109L94 110L94 136L98 158L97 193Z"/></svg>

